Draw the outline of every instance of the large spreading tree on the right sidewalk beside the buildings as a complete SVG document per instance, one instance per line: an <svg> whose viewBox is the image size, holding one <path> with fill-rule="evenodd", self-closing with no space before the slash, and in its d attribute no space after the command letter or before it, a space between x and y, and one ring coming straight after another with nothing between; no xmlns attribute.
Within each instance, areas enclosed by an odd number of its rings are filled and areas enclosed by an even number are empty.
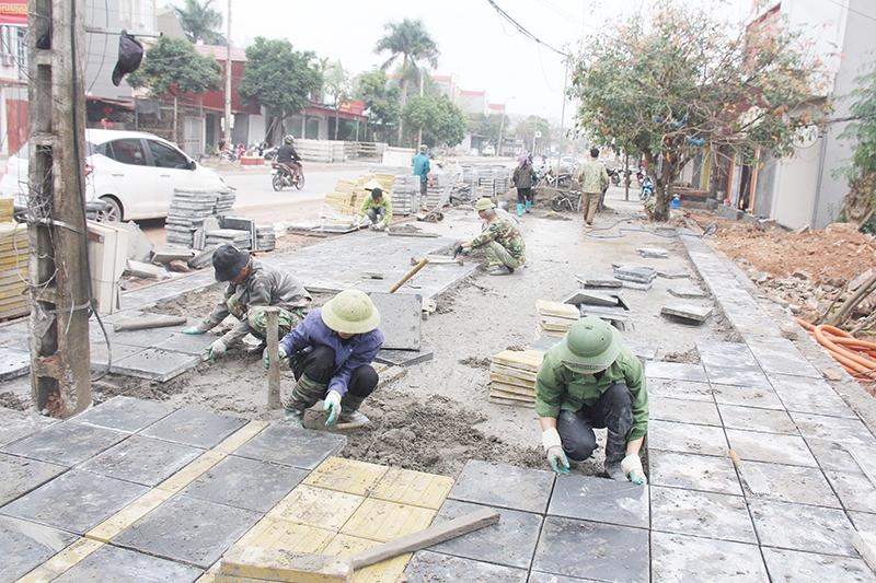
<svg viewBox="0 0 876 583"><path fill-rule="evenodd" d="M826 107L811 100L819 63L798 34L783 22L717 22L708 10L662 0L592 36L575 66L578 124L644 155L657 221L669 220L672 184L704 147L791 155L797 128Z"/></svg>

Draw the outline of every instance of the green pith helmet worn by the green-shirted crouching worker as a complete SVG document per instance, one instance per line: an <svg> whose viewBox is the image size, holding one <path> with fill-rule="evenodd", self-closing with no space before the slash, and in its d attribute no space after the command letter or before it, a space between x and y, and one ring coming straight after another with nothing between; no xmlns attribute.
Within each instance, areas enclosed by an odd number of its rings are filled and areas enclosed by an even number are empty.
<svg viewBox="0 0 876 583"><path fill-rule="evenodd" d="M604 371L618 358L622 343L616 328L596 316L585 316L560 342L560 361L583 373Z"/></svg>

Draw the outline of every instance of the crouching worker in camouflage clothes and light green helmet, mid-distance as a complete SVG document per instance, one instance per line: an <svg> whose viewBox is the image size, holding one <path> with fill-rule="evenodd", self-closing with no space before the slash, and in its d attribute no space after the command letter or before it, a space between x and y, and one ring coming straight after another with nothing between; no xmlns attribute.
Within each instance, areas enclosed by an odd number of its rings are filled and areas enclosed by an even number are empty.
<svg viewBox="0 0 876 583"><path fill-rule="evenodd" d="M491 267L491 276L509 276L527 260L527 247L520 229L508 219L503 219L496 212L496 206L488 198L479 198L474 203L477 215L486 221L486 229L469 243L458 247L464 254L477 247L484 247L484 253Z"/></svg>

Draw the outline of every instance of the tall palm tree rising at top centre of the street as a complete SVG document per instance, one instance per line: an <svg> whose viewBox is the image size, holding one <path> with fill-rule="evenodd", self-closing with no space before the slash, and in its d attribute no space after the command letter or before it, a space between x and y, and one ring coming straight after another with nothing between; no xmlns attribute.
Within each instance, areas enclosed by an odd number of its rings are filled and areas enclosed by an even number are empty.
<svg viewBox="0 0 876 583"><path fill-rule="evenodd" d="M383 25L387 34L377 42L374 53L378 55L384 50L390 51L390 58L380 67L385 71L399 56L402 57L402 66L399 75L399 84L402 90L401 108L407 102L407 83L412 79L418 80L423 74L418 61L426 61L433 69L438 67L438 45L423 27L419 20L412 21L404 19L402 22L388 22ZM399 118L399 142L402 141L402 119Z"/></svg>

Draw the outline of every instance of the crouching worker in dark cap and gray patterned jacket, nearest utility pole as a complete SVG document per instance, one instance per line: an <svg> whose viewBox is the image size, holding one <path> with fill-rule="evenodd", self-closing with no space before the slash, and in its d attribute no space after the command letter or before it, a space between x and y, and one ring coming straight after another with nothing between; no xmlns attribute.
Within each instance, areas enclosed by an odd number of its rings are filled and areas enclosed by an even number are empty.
<svg viewBox="0 0 876 583"><path fill-rule="evenodd" d="M224 355L229 347L247 334L260 340L253 351L261 352L267 337L265 308L279 307L277 337L301 324L310 308L312 298L303 285L288 271L277 269L250 257L250 253L232 245L221 245L212 254L216 281L227 281L224 294L210 315L183 334L204 334L218 326L231 314L238 322L221 338L207 347L211 359Z"/></svg>

